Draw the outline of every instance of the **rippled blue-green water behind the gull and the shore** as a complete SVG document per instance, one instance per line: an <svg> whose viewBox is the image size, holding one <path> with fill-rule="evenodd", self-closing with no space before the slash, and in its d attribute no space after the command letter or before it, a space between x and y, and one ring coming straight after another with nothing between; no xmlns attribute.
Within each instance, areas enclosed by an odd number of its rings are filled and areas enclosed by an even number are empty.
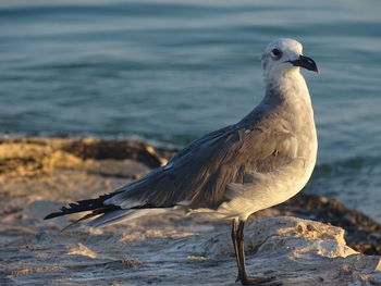
<svg viewBox="0 0 381 286"><path fill-rule="evenodd" d="M381 2L1 1L0 134L183 146L263 95L260 54L292 37L319 129L308 191L381 221Z"/></svg>

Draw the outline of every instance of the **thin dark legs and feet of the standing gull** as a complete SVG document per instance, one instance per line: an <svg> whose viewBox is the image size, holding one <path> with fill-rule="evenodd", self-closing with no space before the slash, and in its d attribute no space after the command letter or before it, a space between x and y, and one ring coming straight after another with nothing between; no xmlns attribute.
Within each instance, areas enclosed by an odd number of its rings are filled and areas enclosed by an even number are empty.
<svg viewBox="0 0 381 286"><path fill-rule="evenodd" d="M263 285L273 279L273 277L249 277L246 272L245 261L245 248L244 248L244 227L245 221L238 221L238 227L236 227L236 221L233 221L232 238L235 251L235 258L238 266L238 278L243 285ZM234 234L233 234L234 233Z"/></svg>

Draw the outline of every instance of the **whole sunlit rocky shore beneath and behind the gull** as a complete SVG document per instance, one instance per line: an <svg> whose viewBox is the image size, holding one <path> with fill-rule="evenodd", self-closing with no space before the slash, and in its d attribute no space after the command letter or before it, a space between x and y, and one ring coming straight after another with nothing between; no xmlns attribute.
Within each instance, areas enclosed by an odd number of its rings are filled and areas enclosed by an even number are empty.
<svg viewBox="0 0 381 286"><path fill-rule="evenodd" d="M42 221L62 202L110 192L175 151L94 138L1 140L0 284L234 285L229 223L156 216L60 233L75 217ZM300 194L251 220L253 274L283 285L381 285L381 225L367 215Z"/></svg>

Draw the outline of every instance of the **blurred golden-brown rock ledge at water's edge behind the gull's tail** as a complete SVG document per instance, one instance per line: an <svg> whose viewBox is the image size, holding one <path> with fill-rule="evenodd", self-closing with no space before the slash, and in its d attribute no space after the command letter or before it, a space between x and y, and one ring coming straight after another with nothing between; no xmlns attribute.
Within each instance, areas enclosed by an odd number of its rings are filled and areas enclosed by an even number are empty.
<svg viewBox="0 0 381 286"><path fill-rule="evenodd" d="M9 138L0 140L0 175L30 176L79 170L108 176L138 177L167 163L171 151L140 141L94 138Z"/></svg>

